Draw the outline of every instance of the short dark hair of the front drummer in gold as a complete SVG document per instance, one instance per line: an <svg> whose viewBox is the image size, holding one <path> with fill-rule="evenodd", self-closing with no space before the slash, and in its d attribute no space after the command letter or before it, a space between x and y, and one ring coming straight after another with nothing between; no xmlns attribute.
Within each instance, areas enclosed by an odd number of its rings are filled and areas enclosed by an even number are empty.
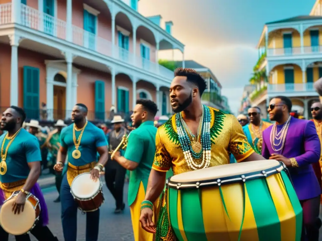
<svg viewBox="0 0 322 241"><path fill-rule="evenodd" d="M204 90L207 88L207 84L204 78L194 69L182 67L176 68L175 77L176 76L185 76L187 77L188 82L198 86L200 96L204 93Z"/></svg>

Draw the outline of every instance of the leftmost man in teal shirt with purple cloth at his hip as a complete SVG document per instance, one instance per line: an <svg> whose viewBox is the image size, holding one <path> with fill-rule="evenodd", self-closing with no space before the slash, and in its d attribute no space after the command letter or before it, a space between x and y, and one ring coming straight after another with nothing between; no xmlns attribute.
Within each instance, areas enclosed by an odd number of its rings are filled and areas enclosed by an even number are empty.
<svg viewBox="0 0 322 241"><path fill-rule="evenodd" d="M1 118L1 130L7 133L0 137L0 188L3 198L7 199L15 191L20 191L13 205L14 214L24 211L26 197L32 193L39 199L41 212L39 221L31 230L33 236L41 241L58 240L47 227L48 210L43 193L37 183L40 175L41 153L35 136L21 128L26 114L23 109L11 106ZM1 195L0 195L1 196ZM4 200L0 200L0 206ZM8 233L0 226L0 240L7 241ZM16 240L30 240L29 234L19 235Z"/></svg>

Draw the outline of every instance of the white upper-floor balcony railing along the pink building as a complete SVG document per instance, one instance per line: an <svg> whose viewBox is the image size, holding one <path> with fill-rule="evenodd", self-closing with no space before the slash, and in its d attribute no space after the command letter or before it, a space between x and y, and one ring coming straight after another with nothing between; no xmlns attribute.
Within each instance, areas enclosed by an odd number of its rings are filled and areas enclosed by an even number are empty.
<svg viewBox="0 0 322 241"><path fill-rule="evenodd" d="M0 25L13 23L11 6L11 3L0 4ZM111 41L77 26L73 25L71 29L68 29L66 22L25 4L21 4L20 23L25 27L44 32L59 39L71 41L76 45L118 59L153 74L159 74L169 79L173 78L173 72L158 63L137 55L134 56L133 53L126 49L122 49L117 45L113 46Z"/></svg>

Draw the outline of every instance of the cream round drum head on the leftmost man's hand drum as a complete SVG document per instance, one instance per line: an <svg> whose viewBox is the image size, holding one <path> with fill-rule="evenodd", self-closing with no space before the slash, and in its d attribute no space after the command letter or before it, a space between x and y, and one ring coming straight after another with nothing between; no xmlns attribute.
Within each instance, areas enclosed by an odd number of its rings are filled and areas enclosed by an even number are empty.
<svg viewBox="0 0 322 241"><path fill-rule="evenodd" d="M11 235L22 235L27 233L36 220L36 212L33 205L26 200L24 211L20 214L14 214L12 204L15 198L6 201L0 210L1 227Z"/></svg>

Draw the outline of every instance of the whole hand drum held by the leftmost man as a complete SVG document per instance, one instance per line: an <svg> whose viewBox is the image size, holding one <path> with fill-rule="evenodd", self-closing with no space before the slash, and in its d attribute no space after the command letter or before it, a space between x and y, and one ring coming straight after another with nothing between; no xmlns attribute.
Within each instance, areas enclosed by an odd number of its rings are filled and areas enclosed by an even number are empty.
<svg viewBox="0 0 322 241"><path fill-rule="evenodd" d="M0 210L1 227L11 235L22 235L32 230L39 220L41 210L38 198L29 193L24 211L20 214L14 214L12 205L18 194L19 191L16 191L5 200Z"/></svg>

